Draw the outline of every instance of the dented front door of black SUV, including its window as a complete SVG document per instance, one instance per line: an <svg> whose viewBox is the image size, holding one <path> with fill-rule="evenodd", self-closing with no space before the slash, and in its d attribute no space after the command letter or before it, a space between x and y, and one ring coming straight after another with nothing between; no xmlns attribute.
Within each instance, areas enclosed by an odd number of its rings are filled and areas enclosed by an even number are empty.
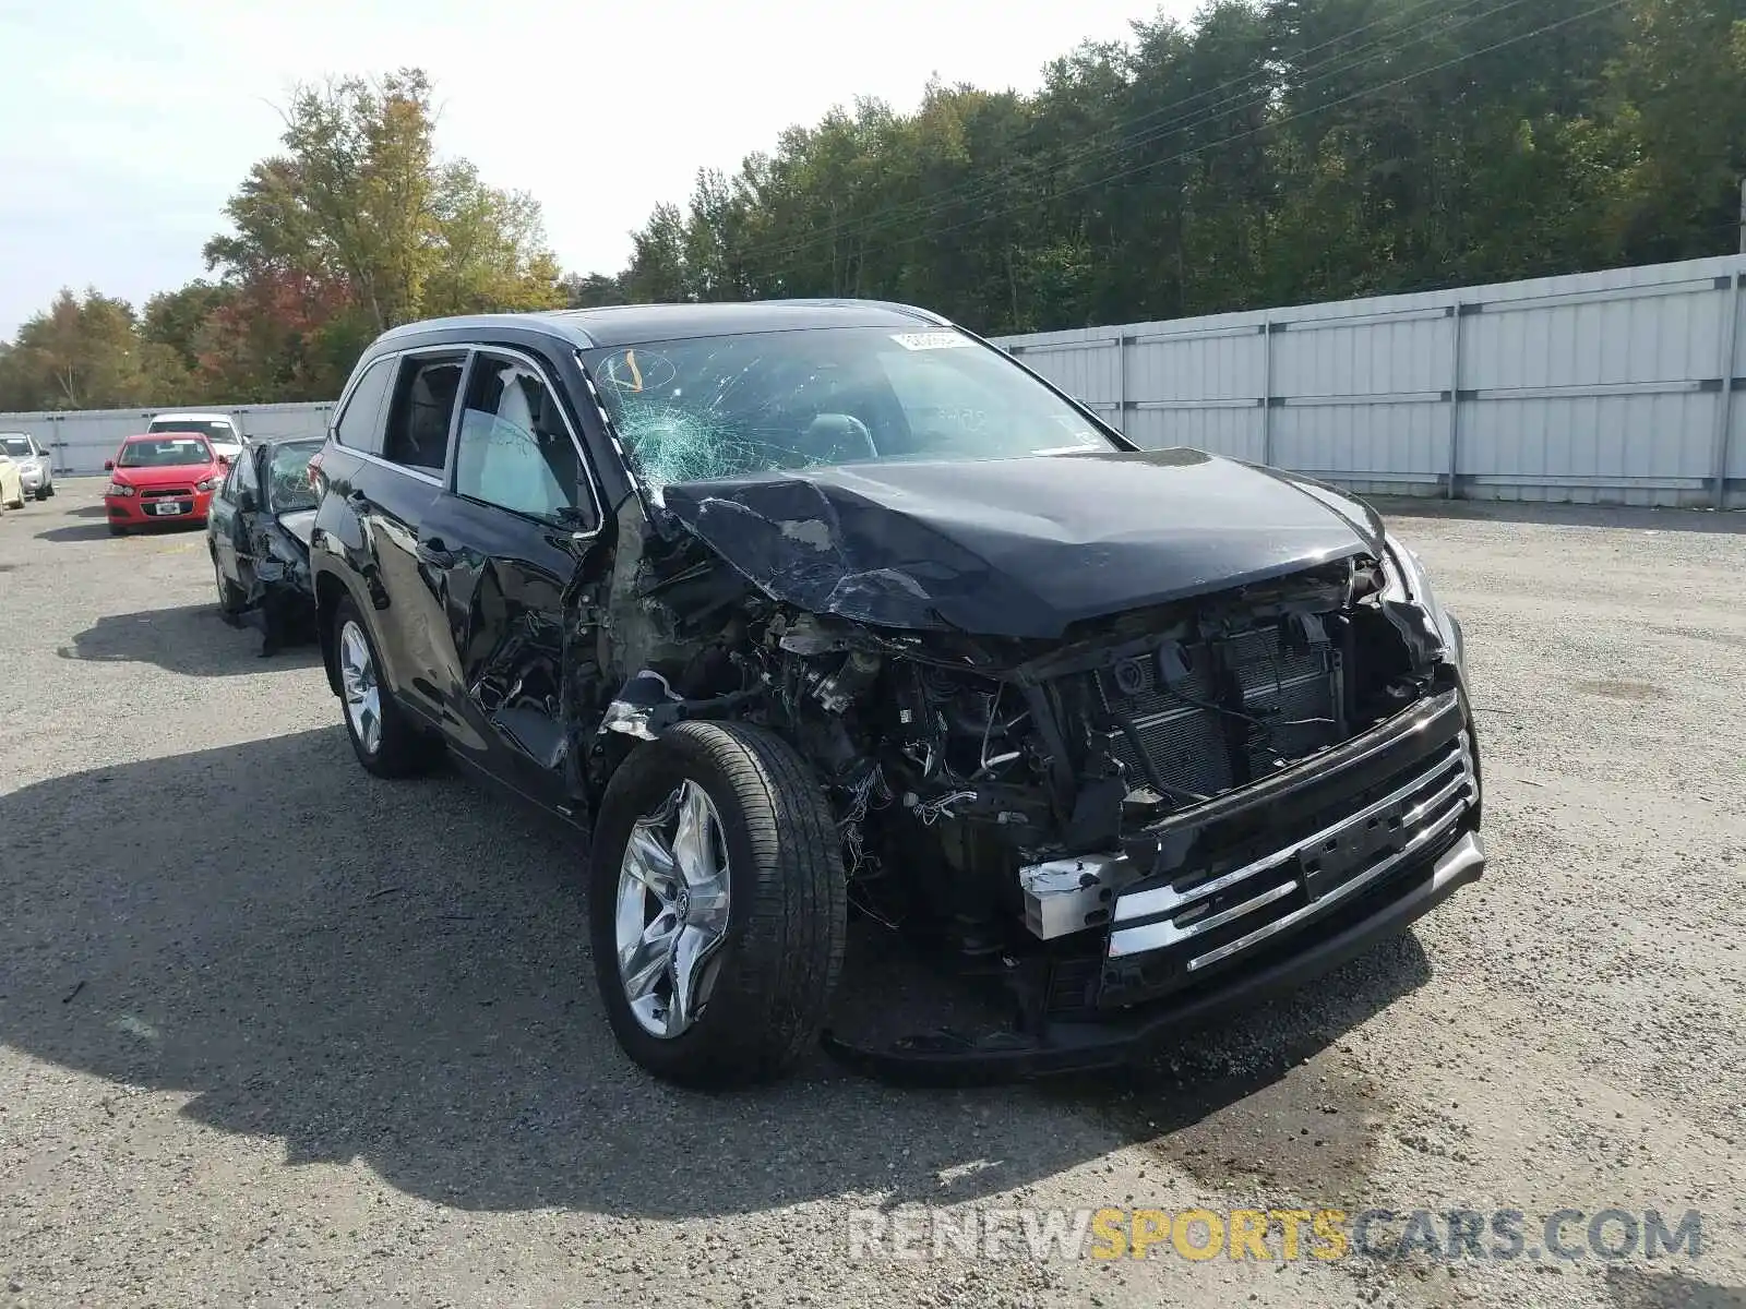
<svg viewBox="0 0 1746 1309"><path fill-rule="evenodd" d="M580 433L543 365L520 351L473 354L449 490L426 518L442 548L466 756L571 817L562 712L566 592L588 565L601 501Z"/></svg>

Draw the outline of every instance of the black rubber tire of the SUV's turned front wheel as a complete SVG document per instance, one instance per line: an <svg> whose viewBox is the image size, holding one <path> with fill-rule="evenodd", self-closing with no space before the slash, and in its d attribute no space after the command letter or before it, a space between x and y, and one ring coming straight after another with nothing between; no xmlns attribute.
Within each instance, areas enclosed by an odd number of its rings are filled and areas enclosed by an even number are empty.
<svg viewBox="0 0 1746 1309"><path fill-rule="evenodd" d="M637 1016L620 969L622 876L639 820L691 794L688 784L719 824L728 902L719 942L697 969L702 998L690 1026L660 1035ZM644 913L658 901L629 880L625 894ZM819 1037L849 930L842 843L812 771L784 740L739 723L681 723L637 747L601 799L588 918L608 1021L643 1068L707 1089L782 1077ZM634 922L630 911L632 934ZM634 958L636 946L629 949ZM672 976L670 963L658 974L669 986Z"/></svg>

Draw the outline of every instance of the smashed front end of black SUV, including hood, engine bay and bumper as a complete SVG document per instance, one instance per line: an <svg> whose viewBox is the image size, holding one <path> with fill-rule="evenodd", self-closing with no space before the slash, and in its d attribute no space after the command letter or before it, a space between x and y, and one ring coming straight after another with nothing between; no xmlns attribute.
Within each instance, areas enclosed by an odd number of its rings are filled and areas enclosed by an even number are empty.
<svg viewBox="0 0 1746 1309"><path fill-rule="evenodd" d="M1322 483L1103 435L620 508L597 778L684 719L775 733L850 906L992 997L826 1035L870 1072L1117 1065L1484 867L1461 632L1418 559Z"/></svg>

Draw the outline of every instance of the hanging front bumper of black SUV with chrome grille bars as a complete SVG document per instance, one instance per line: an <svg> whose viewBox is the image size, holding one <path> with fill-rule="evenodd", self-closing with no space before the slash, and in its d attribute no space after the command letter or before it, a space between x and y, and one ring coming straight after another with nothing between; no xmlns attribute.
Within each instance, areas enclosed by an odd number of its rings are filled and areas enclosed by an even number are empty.
<svg viewBox="0 0 1746 1309"><path fill-rule="evenodd" d="M1337 967L1477 880L1486 866L1479 801L1472 723L1451 686L1100 857L1100 873L1119 871L1103 895L1103 927L1009 967L1023 1014L1014 1028L878 1049L828 1037L826 1047L863 1072L908 1082L1130 1063L1168 1031Z"/></svg>

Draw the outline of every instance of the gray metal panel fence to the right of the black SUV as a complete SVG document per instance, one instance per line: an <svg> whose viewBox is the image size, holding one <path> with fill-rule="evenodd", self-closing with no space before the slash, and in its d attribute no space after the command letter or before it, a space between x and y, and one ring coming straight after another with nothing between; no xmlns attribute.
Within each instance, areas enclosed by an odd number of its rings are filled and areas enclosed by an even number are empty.
<svg viewBox="0 0 1746 1309"><path fill-rule="evenodd" d="M1006 337L1140 445L1369 494L1746 506L1746 257Z"/></svg>

